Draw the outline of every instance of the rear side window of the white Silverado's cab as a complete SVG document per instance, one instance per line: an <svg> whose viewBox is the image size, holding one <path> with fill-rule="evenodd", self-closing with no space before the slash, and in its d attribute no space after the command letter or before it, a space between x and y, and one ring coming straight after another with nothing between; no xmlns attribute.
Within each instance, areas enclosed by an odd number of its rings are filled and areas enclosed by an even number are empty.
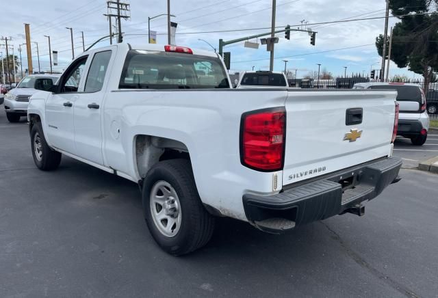
<svg viewBox="0 0 438 298"><path fill-rule="evenodd" d="M94 54L85 82L85 92L98 92L102 90L105 74L110 63L112 51Z"/></svg>

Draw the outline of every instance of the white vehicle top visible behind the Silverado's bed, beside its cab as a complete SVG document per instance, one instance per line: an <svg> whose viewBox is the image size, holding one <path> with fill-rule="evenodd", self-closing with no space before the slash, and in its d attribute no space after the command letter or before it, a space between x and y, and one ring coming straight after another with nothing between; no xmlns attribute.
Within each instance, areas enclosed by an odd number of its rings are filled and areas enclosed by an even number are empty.
<svg viewBox="0 0 438 298"><path fill-rule="evenodd" d="M289 87L283 72L271 71L246 71L240 75L240 79L235 85L237 89L244 88L279 88Z"/></svg>

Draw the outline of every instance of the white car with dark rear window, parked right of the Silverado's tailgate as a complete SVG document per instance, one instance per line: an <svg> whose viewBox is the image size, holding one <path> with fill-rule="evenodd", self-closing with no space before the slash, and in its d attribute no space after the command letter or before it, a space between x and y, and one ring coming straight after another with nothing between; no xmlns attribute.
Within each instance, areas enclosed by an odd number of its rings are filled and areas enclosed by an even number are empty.
<svg viewBox="0 0 438 298"><path fill-rule="evenodd" d="M397 90L400 104L398 135L411 139L413 145L426 143L429 116L422 87L413 83L357 83L353 89Z"/></svg>

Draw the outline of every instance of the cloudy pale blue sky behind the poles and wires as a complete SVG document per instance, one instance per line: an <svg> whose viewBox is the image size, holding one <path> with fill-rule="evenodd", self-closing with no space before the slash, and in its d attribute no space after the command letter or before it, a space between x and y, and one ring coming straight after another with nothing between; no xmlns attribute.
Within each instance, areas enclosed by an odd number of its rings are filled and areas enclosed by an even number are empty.
<svg viewBox="0 0 438 298"><path fill-rule="evenodd" d="M123 21L122 31L124 41L146 43L148 16L166 12L166 0L131 0L131 19ZM372 18L385 16L384 0L340 1L340 0L277 0L276 26L289 24L293 28L301 27L301 21L309 24L329 21L339 21L348 18ZM269 31L271 25L271 0L171 0L171 12L177 22L177 44L213 51L205 42L218 47L218 40L233 40L257 33ZM16 53L18 45L24 41L24 25L31 25L31 40L38 42L41 70L49 69L49 46L44 35L51 36L52 50L59 51L60 66L63 70L71 61L70 31L65 27L73 27L75 53L81 53L81 31L84 32L85 44L91 44L102 36L108 35L109 25L103 14L107 13L104 0L76 1L10 1L3 6L0 25L0 36L11 36ZM394 25L396 18L390 18L389 24ZM276 44L275 70L283 70L287 59L287 68L298 69L298 77L311 70L318 70L316 64L322 64L335 75L344 74L344 66L348 73L370 73L370 68L380 68L380 57L376 53L374 40L383 32L384 19L370 21L354 21L331 25L308 25L313 31L318 31L316 46L310 45L307 33L294 32L291 39L286 40L284 34L279 34L280 41ZM218 33L197 33L203 31L242 30ZM165 44L166 17L156 18L151 22L151 30L158 32L158 43ZM257 40L250 40L257 42ZM105 41L101 44L108 44ZM4 52L0 48L0 51ZM246 49L243 42L226 46L224 51L231 51L231 71L269 68L269 53L265 46L259 49ZM4 54L3 54L4 55ZM32 46L34 69L38 69L36 44ZM23 66L27 67L26 52L23 51ZM373 65L374 64L374 65ZM373 66L372 66L373 65ZM414 74L405 69L391 65L391 76ZM418 75L416 75L418 77Z"/></svg>

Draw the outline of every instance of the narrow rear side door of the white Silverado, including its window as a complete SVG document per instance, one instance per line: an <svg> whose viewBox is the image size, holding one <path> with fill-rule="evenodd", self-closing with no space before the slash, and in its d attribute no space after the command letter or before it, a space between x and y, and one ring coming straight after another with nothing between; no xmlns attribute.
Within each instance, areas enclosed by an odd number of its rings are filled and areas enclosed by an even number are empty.
<svg viewBox="0 0 438 298"><path fill-rule="evenodd" d="M76 155L98 165L103 165L102 105L113 56L113 50L106 50L90 57L83 93L74 106Z"/></svg>

